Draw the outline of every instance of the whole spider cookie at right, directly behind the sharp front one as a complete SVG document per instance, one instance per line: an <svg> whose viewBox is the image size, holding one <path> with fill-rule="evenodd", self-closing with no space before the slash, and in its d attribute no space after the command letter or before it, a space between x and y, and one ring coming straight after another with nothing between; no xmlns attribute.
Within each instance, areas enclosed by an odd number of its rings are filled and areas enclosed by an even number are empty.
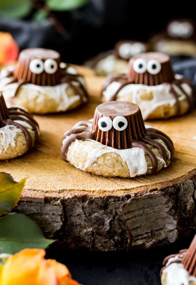
<svg viewBox="0 0 196 285"><path fill-rule="evenodd" d="M144 120L185 114L195 101L190 80L174 75L169 56L157 52L132 57L127 74L108 75L102 96L139 105Z"/></svg>

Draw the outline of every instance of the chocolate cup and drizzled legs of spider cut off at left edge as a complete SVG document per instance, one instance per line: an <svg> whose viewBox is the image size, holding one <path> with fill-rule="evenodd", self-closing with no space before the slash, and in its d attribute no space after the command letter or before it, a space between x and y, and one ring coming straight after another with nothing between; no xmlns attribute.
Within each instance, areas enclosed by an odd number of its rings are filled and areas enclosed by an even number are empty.
<svg viewBox="0 0 196 285"><path fill-rule="evenodd" d="M39 126L38 123L33 119L33 117L25 110L20 108L7 108L4 101L3 95L0 92L0 128L3 128L7 125L14 125L21 129L24 132L25 139L27 141L28 149L32 148L33 140L27 130L27 128L20 123L15 122L15 120L20 120L28 123L32 126L33 131L35 132L35 138L39 137Z"/></svg>

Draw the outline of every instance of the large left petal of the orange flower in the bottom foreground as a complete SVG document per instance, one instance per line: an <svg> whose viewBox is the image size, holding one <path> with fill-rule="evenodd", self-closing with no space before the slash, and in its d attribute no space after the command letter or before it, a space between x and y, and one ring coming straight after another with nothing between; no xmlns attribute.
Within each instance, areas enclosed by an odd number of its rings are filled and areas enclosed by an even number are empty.
<svg viewBox="0 0 196 285"><path fill-rule="evenodd" d="M8 258L1 272L1 285L37 285L43 249L24 249Z"/></svg>

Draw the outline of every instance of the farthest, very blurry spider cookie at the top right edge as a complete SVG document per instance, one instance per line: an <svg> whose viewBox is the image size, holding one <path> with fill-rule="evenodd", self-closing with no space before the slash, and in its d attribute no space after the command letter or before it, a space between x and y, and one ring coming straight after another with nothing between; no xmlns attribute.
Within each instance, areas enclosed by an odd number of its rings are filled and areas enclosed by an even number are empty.
<svg viewBox="0 0 196 285"><path fill-rule="evenodd" d="M150 39L151 50L173 56L196 56L196 24L190 19L174 19Z"/></svg>

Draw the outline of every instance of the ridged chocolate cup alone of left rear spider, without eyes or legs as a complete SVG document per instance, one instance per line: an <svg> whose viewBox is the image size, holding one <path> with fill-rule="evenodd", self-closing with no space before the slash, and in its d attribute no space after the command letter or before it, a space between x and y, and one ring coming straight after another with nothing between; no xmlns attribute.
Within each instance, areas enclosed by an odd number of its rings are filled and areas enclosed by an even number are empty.
<svg viewBox="0 0 196 285"><path fill-rule="evenodd" d="M57 71L53 74L42 73L35 74L29 68L30 62L38 58L43 62L47 59L53 59L57 62ZM18 62L14 70L14 76L18 80L24 80L27 83L32 83L41 86L54 86L60 83L62 78L62 69L60 68L60 54L54 50L42 48L30 48L22 50L19 54Z"/></svg>

